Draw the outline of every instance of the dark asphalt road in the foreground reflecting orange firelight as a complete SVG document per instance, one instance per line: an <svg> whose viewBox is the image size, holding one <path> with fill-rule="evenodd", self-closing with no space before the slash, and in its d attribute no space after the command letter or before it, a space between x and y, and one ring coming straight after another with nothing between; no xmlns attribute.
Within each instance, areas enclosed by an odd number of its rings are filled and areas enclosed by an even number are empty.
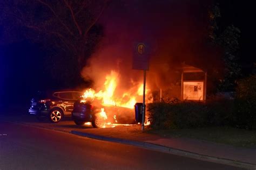
<svg viewBox="0 0 256 170"><path fill-rule="evenodd" d="M0 121L0 169L239 169Z"/></svg>

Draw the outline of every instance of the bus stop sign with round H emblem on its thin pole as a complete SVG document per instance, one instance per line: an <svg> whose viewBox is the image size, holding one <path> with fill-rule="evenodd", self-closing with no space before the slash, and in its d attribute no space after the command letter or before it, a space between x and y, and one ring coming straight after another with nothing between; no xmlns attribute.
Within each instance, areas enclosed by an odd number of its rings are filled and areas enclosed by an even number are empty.
<svg viewBox="0 0 256 170"><path fill-rule="evenodd" d="M144 43L136 44L133 55L133 63L132 68L143 70L144 77L143 77L143 105L142 105L142 131L144 130L144 123L145 123L145 93L146 93L146 70L149 70L149 58L150 58L150 50L149 46L145 45Z"/></svg>

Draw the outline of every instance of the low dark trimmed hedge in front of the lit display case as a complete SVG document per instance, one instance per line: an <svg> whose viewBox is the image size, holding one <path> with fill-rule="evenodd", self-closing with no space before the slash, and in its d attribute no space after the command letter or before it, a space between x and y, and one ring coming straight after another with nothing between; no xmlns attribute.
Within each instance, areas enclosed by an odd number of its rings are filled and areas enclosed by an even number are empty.
<svg viewBox="0 0 256 170"><path fill-rule="evenodd" d="M178 102L149 104L153 129L187 129L230 125L233 101L218 99L207 103Z"/></svg>

